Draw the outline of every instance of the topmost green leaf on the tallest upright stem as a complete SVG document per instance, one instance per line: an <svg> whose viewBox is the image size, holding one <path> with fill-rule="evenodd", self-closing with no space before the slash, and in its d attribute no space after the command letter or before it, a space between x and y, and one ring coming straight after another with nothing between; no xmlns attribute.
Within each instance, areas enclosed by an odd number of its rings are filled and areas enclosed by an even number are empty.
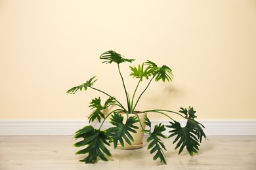
<svg viewBox="0 0 256 170"><path fill-rule="evenodd" d="M118 54L117 52L114 52L113 50L104 52L103 54L100 55L100 59L104 59L105 61L103 61L102 63L123 63L123 62L129 62L131 63L132 61L134 61L135 59L126 59L123 58L123 56L121 54Z"/></svg>

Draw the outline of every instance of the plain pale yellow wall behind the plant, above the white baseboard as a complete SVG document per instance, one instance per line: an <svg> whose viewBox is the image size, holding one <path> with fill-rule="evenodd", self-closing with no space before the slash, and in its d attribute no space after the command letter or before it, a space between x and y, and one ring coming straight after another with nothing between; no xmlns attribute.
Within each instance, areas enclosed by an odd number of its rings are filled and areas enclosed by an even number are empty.
<svg viewBox="0 0 256 170"><path fill-rule="evenodd" d="M0 49L1 120L84 119L99 93L65 92L94 75L95 87L123 96L108 76L116 65L98 59L106 50L173 69L174 81L151 86L138 109L256 119L254 0L0 0Z"/></svg>

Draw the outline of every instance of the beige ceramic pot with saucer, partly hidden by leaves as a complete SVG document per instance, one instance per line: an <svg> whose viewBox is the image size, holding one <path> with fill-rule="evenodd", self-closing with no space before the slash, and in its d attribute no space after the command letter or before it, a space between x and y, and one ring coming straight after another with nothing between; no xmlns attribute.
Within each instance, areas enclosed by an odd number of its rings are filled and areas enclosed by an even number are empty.
<svg viewBox="0 0 256 170"><path fill-rule="evenodd" d="M121 112L121 115L123 116L123 124L125 124L125 122L127 120L127 114L124 114L123 112ZM144 124L144 122L146 122L146 120L145 120L146 113L139 113L138 112L137 115L140 118L140 122L142 124L143 129L145 129L146 124ZM128 114L128 116L136 116L136 114ZM137 131L137 133L131 133L131 135L133 136L133 139L134 139L134 141L131 141L132 146L124 141L125 147L123 148L120 143L117 143L117 148L136 149L136 148L141 148L142 147L144 132L141 132L142 127L140 126L140 122L137 122L137 123L134 124L135 126L139 127L139 129L135 129Z"/></svg>

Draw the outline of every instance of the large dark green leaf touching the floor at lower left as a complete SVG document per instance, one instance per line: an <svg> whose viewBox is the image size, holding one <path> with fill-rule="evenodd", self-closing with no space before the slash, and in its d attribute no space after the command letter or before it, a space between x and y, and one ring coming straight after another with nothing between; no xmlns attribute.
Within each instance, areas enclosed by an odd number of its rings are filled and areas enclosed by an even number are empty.
<svg viewBox="0 0 256 170"><path fill-rule="evenodd" d="M88 154L83 160L85 163L96 163L98 157L104 161L108 161L107 156L112 156L105 144L110 146L108 141L110 138L100 129L95 129L93 126L85 126L79 129L74 136L75 139L82 138L74 144L76 147L87 146L85 149L77 151L75 154Z"/></svg>

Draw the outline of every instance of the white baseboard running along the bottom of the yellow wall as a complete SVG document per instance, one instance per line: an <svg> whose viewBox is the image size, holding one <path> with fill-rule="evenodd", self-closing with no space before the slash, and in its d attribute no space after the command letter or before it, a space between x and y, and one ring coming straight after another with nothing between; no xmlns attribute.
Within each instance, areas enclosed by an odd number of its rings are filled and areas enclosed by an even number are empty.
<svg viewBox="0 0 256 170"><path fill-rule="evenodd" d="M155 124L169 124L167 120L153 120ZM256 120L198 120L210 135L256 135ZM181 122L185 124L185 122ZM0 120L0 135L74 135L89 125L87 120ZM96 126L96 124L93 124ZM104 128L111 127L109 122ZM167 133L167 131L166 131ZM167 135L167 134L165 134Z"/></svg>

